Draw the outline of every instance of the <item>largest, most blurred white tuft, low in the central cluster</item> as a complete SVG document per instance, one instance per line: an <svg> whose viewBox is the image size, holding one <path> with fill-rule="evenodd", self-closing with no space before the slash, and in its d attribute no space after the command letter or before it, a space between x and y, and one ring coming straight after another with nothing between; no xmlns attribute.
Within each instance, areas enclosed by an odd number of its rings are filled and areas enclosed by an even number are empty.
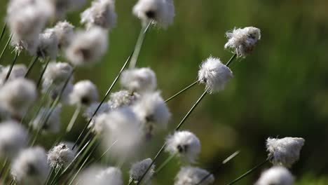
<svg viewBox="0 0 328 185"><path fill-rule="evenodd" d="M140 123L130 107L122 107L102 114L95 119L95 127L104 128L104 149L108 149L114 142L112 152L119 156L134 155L142 141ZM101 126L100 126L101 127ZM133 151L133 152L132 152Z"/></svg>

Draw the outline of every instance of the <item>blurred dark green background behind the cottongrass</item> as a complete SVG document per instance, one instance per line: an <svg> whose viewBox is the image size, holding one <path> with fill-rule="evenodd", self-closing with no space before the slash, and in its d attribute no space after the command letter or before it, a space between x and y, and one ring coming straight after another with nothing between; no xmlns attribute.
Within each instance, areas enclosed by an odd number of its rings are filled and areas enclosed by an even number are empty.
<svg viewBox="0 0 328 185"><path fill-rule="evenodd" d="M7 2L0 2L3 20ZM110 33L109 52L95 67L76 71L75 80L90 79L100 95L104 95L135 45L141 27L131 13L135 2L116 1L118 24ZM183 126L202 142L197 165L214 172L214 184L226 184L265 160L267 137L303 137L306 144L301 159L291 170L296 184L328 184L328 1L188 0L175 1L175 8L173 25L168 29L151 28L137 63L156 71L164 98L195 81L200 62L210 55L222 61L231 57L224 50L228 30L254 26L262 34L253 53L232 64L234 78L226 90L205 97ZM80 26L79 13L69 14L67 20ZM0 46L2 50L4 41ZM9 64L12 58L13 53L7 52L2 64ZM32 57L24 54L19 58L25 64L30 60ZM32 78L40 73L40 66L34 69ZM119 88L116 85L115 90ZM173 114L170 127L143 149L142 158L155 156L165 135L172 133L203 88L198 85L169 102ZM72 107L64 107L63 125L73 111ZM79 118L65 139L74 141L84 124ZM50 147L55 136L39 140ZM219 169L221 160L237 150L240 154ZM167 157L165 153L159 162ZM269 165L261 170L266 167ZM176 160L153 184L172 184L178 170ZM238 184L253 184L261 170Z"/></svg>

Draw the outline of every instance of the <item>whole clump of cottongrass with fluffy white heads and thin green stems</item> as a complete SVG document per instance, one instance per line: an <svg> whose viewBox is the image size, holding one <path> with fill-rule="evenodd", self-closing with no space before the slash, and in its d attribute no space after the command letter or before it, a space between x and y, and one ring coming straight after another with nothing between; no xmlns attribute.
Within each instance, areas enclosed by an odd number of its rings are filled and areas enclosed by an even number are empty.
<svg viewBox="0 0 328 185"><path fill-rule="evenodd" d="M212 184L214 172L196 166L200 139L181 129L205 95L224 90L233 78L231 63L252 53L261 39L260 29L245 27L227 32L224 48L233 53L230 60L224 63L218 57L207 57L200 63L197 81L165 100L158 90L155 71L136 66L146 33L152 27L167 29L173 23L175 6L172 0L139 0L132 8L132 14L142 25L137 43L100 98L92 81L74 81L74 71L92 67L107 53L109 34L117 22L115 1L93 0L81 13L85 27L76 28L64 20L69 11L85 3L85 0L9 1L0 41L4 41L7 30L10 36L0 61L8 47L15 50L15 57L10 65L0 67L1 180L6 184L151 184L170 160L177 158L181 169L175 185ZM53 27L47 28L48 25ZM28 67L15 64L23 51L32 55ZM59 57L63 62L57 61ZM36 81L27 79L38 61L43 66L41 74ZM121 90L111 92L118 82ZM157 132L168 128L172 113L167 102L198 84L205 85L203 93L168 134L156 156L139 158L140 148L146 147ZM61 130L64 106L76 110L66 132L53 139L51 148L38 146L40 137ZM86 118L83 129L74 141L63 142L80 114ZM273 167L263 172L257 185L292 184L294 177L286 167L299 160L303 144L303 138L269 137L268 158L228 184L240 181L268 161ZM94 154L96 150L101 151L100 157ZM158 158L164 151L169 157L160 164ZM219 167L224 167L238 153L223 160ZM113 156L116 164L108 160ZM132 164L130 169L125 169L126 163ZM129 180L123 178L124 174L128 174Z"/></svg>

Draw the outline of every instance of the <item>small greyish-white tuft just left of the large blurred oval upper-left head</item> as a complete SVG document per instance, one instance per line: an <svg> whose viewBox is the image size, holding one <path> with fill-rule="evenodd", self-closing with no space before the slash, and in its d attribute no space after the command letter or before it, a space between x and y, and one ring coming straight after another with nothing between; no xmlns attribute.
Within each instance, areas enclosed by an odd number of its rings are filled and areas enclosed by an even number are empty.
<svg viewBox="0 0 328 185"><path fill-rule="evenodd" d="M39 45L36 49L36 55L42 58L50 57L55 60L58 50L58 38L55 29L46 29L42 34L39 34Z"/></svg>

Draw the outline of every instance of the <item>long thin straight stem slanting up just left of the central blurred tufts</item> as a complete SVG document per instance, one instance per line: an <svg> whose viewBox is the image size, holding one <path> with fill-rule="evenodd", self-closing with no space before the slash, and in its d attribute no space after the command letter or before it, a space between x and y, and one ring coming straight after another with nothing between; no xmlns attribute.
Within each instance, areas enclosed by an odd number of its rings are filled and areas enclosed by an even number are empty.
<svg viewBox="0 0 328 185"><path fill-rule="evenodd" d="M107 90L106 94L104 95L104 97L102 98L102 102L100 102L100 104L98 105L97 109L95 109L95 112L93 113L93 116L90 117L88 123L86 123L86 125L84 126L83 130L81 131L80 135L78 135L78 138L76 139L73 149L76 147L76 144L78 143L78 141L81 139L84 131L86 131L86 129L88 128L88 125L91 123L91 121L93 121L93 117L95 117L95 115L97 114L97 112L99 111L100 107L102 106L102 104L104 103L104 101L107 99L109 93L111 93L111 89L114 87L114 85L116 84L116 82L118 81L118 78L121 76L123 70L125 69L126 65L130 62L130 59L133 55L135 51L133 50L132 53L130 54L130 56L128 57L128 59L125 61L125 63L123 64L123 67L121 68L121 71L119 71L118 75L116 76L116 78L114 79L113 83L111 83L111 86L109 87L109 89Z"/></svg>

